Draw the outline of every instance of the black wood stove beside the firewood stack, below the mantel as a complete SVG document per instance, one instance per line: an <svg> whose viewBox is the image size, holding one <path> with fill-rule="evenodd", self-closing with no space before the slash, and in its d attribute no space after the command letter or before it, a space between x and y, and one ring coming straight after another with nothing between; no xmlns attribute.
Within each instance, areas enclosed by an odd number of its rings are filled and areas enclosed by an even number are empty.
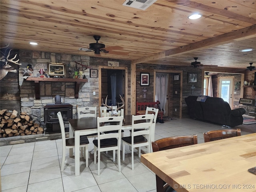
<svg viewBox="0 0 256 192"><path fill-rule="evenodd" d="M60 111L65 125L65 132L69 132L68 120L73 118L72 105L70 104L47 104L44 106L44 123L46 124L46 133L60 133L60 124L57 113Z"/></svg>

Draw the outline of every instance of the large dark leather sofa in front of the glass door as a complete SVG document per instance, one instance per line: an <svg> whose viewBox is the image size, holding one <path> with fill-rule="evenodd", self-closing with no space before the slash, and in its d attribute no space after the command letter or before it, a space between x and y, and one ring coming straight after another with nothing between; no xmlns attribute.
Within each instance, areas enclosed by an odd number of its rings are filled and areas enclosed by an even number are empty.
<svg viewBox="0 0 256 192"><path fill-rule="evenodd" d="M243 123L244 108L231 110L222 98L208 97L205 102L197 101L198 96L188 96L185 102L190 118L234 127Z"/></svg>

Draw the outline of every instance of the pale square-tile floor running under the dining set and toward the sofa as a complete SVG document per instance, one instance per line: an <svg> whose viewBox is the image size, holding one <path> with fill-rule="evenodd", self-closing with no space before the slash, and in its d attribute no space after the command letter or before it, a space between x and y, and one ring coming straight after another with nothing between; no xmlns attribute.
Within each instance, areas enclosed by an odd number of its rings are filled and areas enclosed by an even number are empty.
<svg viewBox="0 0 256 192"><path fill-rule="evenodd" d="M242 126L242 125L241 125ZM239 126L238 126L239 128ZM223 129L192 119L176 119L156 123L155 140L171 136L198 135L198 143L204 142L203 132ZM250 134L242 131L242 135ZM125 130L125 136L130 132ZM80 160L80 176L74 176L74 157L66 150L66 165L60 172L62 141L47 140L0 147L2 192L156 192L155 175L135 154L134 170L131 170L131 154L126 148L126 158L121 160L121 172L112 153L101 153L101 174L93 163L93 144L89 138L89 167Z"/></svg>

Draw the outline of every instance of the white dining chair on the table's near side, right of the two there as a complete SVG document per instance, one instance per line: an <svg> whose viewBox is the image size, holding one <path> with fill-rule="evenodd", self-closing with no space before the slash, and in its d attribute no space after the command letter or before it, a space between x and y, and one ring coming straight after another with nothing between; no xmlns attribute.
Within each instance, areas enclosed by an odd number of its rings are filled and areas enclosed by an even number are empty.
<svg viewBox="0 0 256 192"><path fill-rule="evenodd" d="M144 120L143 122L140 122ZM134 148L138 148L138 157L140 157L140 147L147 146L148 153L150 152L150 134L154 114L132 116L132 136L122 138L122 159L124 160L125 144L131 146L132 150L132 170L134 170ZM141 129L134 131L135 129Z"/></svg>

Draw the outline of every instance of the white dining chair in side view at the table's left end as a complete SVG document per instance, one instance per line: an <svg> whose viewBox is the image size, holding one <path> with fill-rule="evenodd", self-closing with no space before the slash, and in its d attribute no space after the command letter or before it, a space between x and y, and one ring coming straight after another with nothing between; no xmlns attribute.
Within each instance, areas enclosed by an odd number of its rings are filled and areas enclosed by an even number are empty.
<svg viewBox="0 0 256 192"><path fill-rule="evenodd" d="M66 138L64 122L63 122L62 114L60 111L57 113L57 116L60 123L60 130L61 130L61 137L62 137L62 161L61 161L62 163L61 163L60 171L64 171L66 149L75 147L75 138ZM89 144L89 141L87 136L80 136L80 148L85 148L84 158L86 160L86 167L88 167L88 144Z"/></svg>

